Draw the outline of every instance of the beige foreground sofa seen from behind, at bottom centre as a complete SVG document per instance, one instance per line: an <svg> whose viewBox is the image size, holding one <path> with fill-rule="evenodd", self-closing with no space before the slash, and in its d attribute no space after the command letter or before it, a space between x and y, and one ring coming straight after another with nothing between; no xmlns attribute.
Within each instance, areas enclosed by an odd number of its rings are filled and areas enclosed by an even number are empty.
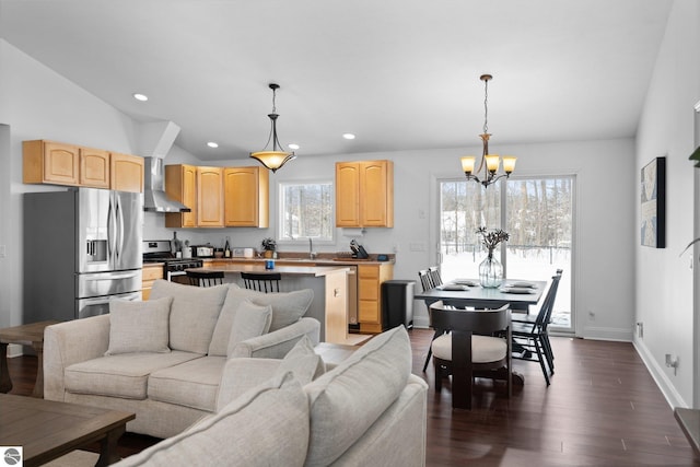
<svg viewBox="0 0 700 467"><path fill-rule="evenodd" d="M406 329L315 378L305 343L283 360L230 359L215 415L117 466L424 466L428 385Z"/></svg>

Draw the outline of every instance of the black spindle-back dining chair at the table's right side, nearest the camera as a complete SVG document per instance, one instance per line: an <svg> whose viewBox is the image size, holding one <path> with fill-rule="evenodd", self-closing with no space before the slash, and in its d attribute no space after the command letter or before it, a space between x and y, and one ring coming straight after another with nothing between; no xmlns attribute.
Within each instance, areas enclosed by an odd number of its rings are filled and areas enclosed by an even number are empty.
<svg viewBox="0 0 700 467"><path fill-rule="evenodd" d="M547 386L550 384L549 376L555 374L555 353L549 341L548 328L562 272L561 269L558 269L557 273L552 276L547 295L534 318L532 315L513 318L512 335L515 346L518 347L518 351L513 354L513 358L539 362Z"/></svg>

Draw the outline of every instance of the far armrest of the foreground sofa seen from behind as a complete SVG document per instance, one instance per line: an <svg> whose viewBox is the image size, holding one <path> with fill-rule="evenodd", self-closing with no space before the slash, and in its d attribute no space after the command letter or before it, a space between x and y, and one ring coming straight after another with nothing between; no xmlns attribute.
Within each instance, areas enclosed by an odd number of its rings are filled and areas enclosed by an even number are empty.
<svg viewBox="0 0 700 467"><path fill-rule="evenodd" d="M280 362L277 359L229 359L221 374L217 412L246 390L275 376Z"/></svg>

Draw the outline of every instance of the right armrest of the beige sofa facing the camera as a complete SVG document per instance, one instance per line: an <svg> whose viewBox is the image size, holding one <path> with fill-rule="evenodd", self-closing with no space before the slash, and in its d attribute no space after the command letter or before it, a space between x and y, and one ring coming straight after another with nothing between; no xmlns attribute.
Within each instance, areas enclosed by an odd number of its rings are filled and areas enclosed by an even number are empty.
<svg viewBox="0 0 700 467"><path fill-rule="evenodd" d="M233 349L229 358L282 359L304 336L308 336L314 346L318 343L320 336L320 323L318 319L303 317L296 323L276 331L244 340Z"/></svg>

